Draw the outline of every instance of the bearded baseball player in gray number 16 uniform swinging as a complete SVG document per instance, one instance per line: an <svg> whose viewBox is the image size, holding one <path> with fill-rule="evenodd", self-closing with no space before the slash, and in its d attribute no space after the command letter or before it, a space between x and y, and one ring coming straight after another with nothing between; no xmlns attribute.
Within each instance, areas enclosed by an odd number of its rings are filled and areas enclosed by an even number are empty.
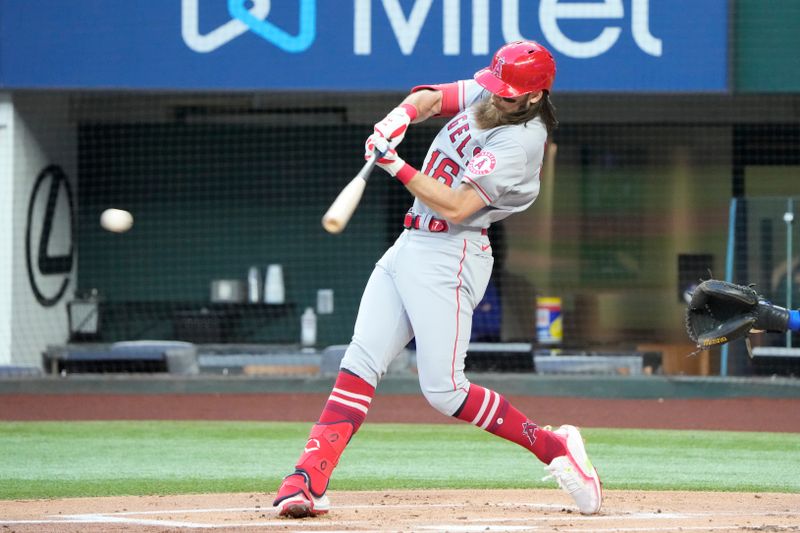
<svg viewBox="0 0 800 533"><path fill-rule="evenodd" d="M472 312L492 271L487 229L536 199L545 143L557 125L549 97L555 71L540 44L506 44L474 79L415 87L375 125L365 157L379 157L377 164L415 201L405 230L367 282L333 390L295 471L278 489L279 515L329 511L331 473L389 364L412 338L431 406L527 448L582 513L600 510L600 479L575 427L541 427L464 375ZM418 170L396 148L409 124L433 116L450 120Z"/></svg>

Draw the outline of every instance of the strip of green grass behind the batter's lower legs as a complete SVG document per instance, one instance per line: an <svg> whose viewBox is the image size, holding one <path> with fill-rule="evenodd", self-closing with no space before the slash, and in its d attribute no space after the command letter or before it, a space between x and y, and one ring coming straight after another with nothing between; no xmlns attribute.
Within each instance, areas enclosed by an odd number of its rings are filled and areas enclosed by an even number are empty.
<svg viewBox="0 0 800 533"><path fill-rule="evenodd" d="M0 422L0 498L270 492L310 425ZM584 429L607 490L800 492L800 434ZM366 424L332 490L555 487L472 426Z"/></svg>

